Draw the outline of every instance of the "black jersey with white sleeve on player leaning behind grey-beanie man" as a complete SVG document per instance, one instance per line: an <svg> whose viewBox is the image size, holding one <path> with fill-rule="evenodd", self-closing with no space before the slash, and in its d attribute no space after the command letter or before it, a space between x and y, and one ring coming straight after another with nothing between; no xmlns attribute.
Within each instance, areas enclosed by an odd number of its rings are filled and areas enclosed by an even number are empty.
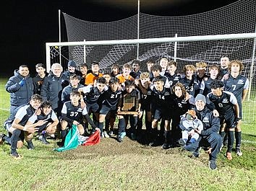
<svg viewBox="0 0 256 191"><path fill-rule="evenodd" d="M231 92L223 91L221 97L218 97L210 92L207 97L207 103L210 105L210 108L217 110L220 115L226 115L231 112L234 113L234 105L237 104L237 100L236 97L234 97L234 94Z"/></svg>

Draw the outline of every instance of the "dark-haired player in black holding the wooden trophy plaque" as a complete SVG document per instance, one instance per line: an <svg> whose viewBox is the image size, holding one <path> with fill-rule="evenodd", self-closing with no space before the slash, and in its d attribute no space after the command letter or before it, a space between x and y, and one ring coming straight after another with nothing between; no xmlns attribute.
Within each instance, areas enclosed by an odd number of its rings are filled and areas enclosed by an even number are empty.
<svg viewBox="0 0 256 191"><path fill-rule="evenodd" d="M133 111L137 112L135 115L117 115L119 119L119 133L117 136L117 141L122 142L124 139L124 136L126 136L126 127L128 124L130 124L130 132L131 132L131 138L132 140L136 139L136 127L137 127L137 115L139 115L140 112L140 92L135 89L135 81L133 80L127 80L124 82L125 85L125 90L122 92L121 97L119 99L118 107L117 107L117 112L121 110L125 111ZM131 108L124 109L124 98L135 98L135 105L132 105Z"/></svg>

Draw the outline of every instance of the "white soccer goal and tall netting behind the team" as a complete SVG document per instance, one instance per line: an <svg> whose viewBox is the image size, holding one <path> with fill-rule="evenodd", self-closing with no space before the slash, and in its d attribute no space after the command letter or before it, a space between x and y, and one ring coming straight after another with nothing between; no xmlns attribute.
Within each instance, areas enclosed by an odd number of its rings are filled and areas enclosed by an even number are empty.
<svg viewBox="0 0 256 191"><path fill-rule="evenodd" d="M122 66L138 59L141 71L146 71L147 61L158 63L166 57L175 60L177 71L182 72L185 65L200 61L219 65L227 55L242 61L242 74L250 80L243 117L252 122L256 115L255 8L255 0L240 0L201 14L159 17L139 13L114 22L88 22L62 13L69 42L46 43L46 62L49 68L61 61L65 68L69 60L77 67L98 61L101 69L107 69L113 63Z"/></svg>

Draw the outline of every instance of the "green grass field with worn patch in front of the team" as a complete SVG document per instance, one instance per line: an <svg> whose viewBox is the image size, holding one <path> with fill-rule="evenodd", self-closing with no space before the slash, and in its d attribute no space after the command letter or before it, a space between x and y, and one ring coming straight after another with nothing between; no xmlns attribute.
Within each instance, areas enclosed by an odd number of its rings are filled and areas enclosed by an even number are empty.
<svg viewBox="0 0 256 191"><path fill-rule="evenodd" d="M0 79L0 132L9 115L9 94ZM254 114L255 115L255 114ZM256 190L255 123L242 125L243 156L227 161L226 148L218 156L218 169L208 169L208 155L193 158L181 148L163 150L129 138L118 143L103 138L95 146L79 146L57 153L56 141L34 151L21 148L14 160L9 145L0 146L0 190ZM6 132L5 132L6 133Z"/></svg>

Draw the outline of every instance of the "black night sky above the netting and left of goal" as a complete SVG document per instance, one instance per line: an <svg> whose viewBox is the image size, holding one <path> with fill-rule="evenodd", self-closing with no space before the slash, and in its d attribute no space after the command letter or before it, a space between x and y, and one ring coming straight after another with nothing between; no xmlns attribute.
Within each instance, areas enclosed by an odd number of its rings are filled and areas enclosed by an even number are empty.
<svg viewBox="0 0 256 191"><path fill-rule="evenodd" d="M33 76L35 64L46 63L45 43L59 41L59 9L78 19L92 22L111 22L137 14L137 0L116 1L1 1L0 76L12 76L14 69L22 64L29 66ZM197 14L234 1L236 0L140 0L140 12L159 16ZM61 30L61 41L67 41L64 25Z"/></svg>

